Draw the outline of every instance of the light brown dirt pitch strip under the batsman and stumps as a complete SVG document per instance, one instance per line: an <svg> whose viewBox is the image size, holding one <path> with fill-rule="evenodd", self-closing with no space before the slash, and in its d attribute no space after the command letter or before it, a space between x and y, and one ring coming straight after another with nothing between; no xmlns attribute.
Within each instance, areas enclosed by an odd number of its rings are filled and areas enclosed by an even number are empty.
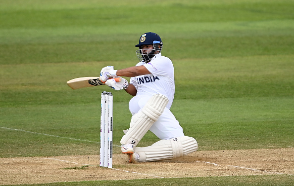
<svg viewBox="0 0 294 186"><path fill-rule="evenodd" d="M99 167L98 155L0 158L0 185L230 175L294 175L293 154L294 148L196 151L175 160L135 164L127 163L125 154L113 154L111 169Z"/></svg>

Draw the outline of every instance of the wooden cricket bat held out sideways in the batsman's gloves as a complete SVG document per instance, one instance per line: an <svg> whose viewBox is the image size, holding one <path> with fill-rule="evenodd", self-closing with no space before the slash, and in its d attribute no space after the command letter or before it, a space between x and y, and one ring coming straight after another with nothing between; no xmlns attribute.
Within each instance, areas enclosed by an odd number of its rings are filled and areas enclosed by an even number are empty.
<svg viewBox="0 0 294 186"><path fill-rule="evenodd" d="M115 77L114 79L116 82L121 81L120 77ZM99 85L105 84L105 82L102 82L99 77L78 77L75 79L71 79L67 81L66 83L72 89L99 86Z"/></svg>

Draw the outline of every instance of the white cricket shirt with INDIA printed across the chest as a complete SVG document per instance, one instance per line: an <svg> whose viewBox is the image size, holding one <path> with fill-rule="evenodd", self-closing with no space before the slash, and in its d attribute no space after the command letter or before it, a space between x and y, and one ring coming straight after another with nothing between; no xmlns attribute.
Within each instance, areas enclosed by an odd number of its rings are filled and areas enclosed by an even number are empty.
<svg viewBox="0 0 294 186"><path fill-rule="evenodd" d="M154 94L161 94L168 98L167 108L170 109L175 94L174 67L172 61L156 54L149 63L139 62L136 66L144 65L151 74L131 77L130 84L137 89L136 97L145 96L146 99Z"/></svg>

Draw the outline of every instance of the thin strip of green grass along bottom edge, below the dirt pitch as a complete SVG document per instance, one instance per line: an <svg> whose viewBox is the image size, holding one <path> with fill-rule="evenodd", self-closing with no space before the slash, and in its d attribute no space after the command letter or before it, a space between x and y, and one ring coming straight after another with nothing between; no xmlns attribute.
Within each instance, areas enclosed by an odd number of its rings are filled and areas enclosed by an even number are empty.
<svg viewBox="0 0 294 186"><path fill-rule="evenodd" d="M292 186L294 178L291 176L234 176L234 177L206 177L206 178L170 178L144 179L122 181L90 181L50 184L30 184L21 186ZM213 184L212 184L213 183Z"/></svg>

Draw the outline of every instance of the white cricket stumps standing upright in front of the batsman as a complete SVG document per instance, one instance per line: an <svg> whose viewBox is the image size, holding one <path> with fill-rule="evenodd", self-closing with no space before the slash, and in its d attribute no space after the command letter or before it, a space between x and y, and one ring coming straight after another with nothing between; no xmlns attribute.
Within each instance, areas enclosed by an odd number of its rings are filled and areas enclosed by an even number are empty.
<svg viewBox="0 0 294 186"><path fill-rule="evenodd" d="M100 116L100 167L112 168L112 109L111 92L101 93Z"/></svg>

